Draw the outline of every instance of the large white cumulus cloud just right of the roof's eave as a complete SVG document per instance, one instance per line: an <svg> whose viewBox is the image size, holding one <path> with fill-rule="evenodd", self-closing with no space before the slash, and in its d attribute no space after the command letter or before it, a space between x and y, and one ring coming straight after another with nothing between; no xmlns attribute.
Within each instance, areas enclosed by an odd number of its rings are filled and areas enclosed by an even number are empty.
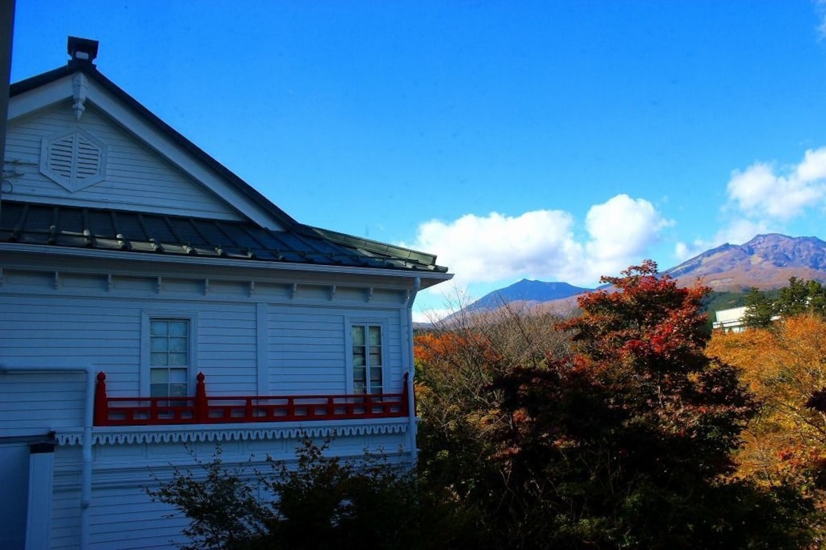
<svg viewBox="0 0 826 550"><path fill-rule="evenodd" d="M415 249L438 254L458 287L521 277L591 286L645 258L657 233L671 222L643 199L618 195L591 206L583 237L567 211L537 210L519 216L491 212L419 226ZM435 287L444 292L444 285Z"/></svg>

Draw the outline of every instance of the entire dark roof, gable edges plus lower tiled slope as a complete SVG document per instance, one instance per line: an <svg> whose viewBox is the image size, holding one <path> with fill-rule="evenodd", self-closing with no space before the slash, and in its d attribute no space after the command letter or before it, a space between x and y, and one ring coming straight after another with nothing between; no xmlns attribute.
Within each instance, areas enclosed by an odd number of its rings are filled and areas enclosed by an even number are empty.
<svg viewBox="0 0 826 550"><path fill-rule="evenodd" d="M69 38L69 53L72 53L72 40L78 39ZM246 222L231 222L187 216L164 216L140 211L3 200L0 209L0 243L447 273L447 268L436 264L433 254L299 223L249 183L244 182L112 83L91 61L92 59L72 59L64 67L12 83L10 97L23 97L27 92L36 92L50 84L58 83L61 79L83 73L150 125L154 131L164 135L173 145L215 173L223 183L240 193L250 204L263 209L268 217L277 222L281 230L267 229L252 219ZM126 235L123 227L130 228L131 233ZM443 275L439 278L449 276Z"/></svg>

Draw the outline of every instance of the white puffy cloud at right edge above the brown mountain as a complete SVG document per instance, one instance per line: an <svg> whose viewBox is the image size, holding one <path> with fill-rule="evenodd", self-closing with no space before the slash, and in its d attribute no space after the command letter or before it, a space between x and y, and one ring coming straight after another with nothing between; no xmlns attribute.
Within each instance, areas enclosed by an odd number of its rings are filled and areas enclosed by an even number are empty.
<svg viewBox="0 0 826 550"><path fill-rule="evenodd" d="M778 169L755 163L735 170L728 185L729 206L743 216L789 220L807 208L819 206L826 197L826 147L809 149L796 166Z"/></svg>

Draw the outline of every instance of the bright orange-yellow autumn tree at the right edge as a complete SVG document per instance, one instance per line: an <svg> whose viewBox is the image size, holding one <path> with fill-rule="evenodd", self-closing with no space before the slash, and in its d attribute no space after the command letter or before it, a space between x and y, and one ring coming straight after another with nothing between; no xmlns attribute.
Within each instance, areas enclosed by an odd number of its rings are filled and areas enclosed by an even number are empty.
<svg viewBox="0 0 826 550"><path fill-rule="evenodd" d="M707 353L740 367L762 402L738 453L738 476L792 483L826 512L826 410L818 400L826 388L826 319L793 315L772 330L714 334Z"/></svg>

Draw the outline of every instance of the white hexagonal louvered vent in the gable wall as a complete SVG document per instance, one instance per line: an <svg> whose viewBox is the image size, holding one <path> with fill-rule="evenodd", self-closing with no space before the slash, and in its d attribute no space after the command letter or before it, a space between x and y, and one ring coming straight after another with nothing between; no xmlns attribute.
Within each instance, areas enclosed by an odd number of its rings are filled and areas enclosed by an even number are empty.
<svg viewBox="0 0 826 550"><path fill-rule="evenodd" d="M43 138L40 173L71 192L106 176L106 146L80 128Z"/></svg>

